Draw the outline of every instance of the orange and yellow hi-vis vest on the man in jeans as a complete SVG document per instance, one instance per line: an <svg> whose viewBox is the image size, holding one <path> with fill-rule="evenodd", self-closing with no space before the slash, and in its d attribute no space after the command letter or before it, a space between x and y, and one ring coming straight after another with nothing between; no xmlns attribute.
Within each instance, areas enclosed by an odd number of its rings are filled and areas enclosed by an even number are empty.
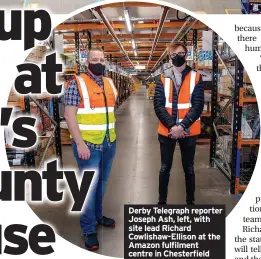
<svg viewBox="0 0 261 259"><path fill-rule="evenodd" d="M104 90L86 74L75 75L81 103L77 122L83 140L102 144L109 130L110 141L116 139L114 107L118 92L110 78L103 77Z"/></svg>

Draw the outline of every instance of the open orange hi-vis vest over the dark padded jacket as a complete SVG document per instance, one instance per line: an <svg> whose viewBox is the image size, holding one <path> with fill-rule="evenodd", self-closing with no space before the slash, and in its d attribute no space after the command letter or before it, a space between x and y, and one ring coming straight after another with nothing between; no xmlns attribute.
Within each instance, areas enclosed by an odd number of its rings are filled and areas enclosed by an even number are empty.
<svg viewBox="0 0 261 259"><path fill-rule="evenodd" d="M191 96L194 91L195 86L198 84L200 78L200 74L191 71L189 72L182 85L180 86L179 94L178 94L178 121L179 123L185 118L189 110L191 109ZM172 101L173 101L173 81L171 78L165 78L163 75L161 76L161 81L164 86L165 92L165 108L170 115L172 115ZM196 136L201 132L200 126L200 118L198 118L189 128L189 134L186 136ZM168 136L169 130L159 122L158 133L163 136Z"/></svg>

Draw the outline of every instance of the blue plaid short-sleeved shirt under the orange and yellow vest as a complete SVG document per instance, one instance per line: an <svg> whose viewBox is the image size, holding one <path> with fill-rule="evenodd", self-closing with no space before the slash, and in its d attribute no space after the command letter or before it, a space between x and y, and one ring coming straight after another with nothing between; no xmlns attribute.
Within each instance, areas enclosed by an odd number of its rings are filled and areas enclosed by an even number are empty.
<svg viewBox="0 0 261 259"><path fill-rule="evenodd" d="M87 76L89 76L94 82L96 82L102 89L104 88L102 76L93 76L91 75L88 70L86 71ZM69 83L69 86L64 91L63 96L63 104L65 106L76 106L78 107L81 103L81 97L78 91L76 80L73 79ZM107 140L108 146L111 145L109 131L107 130L105 139ZM103 150L103 143L100 145L96 145L90 142L85 141L89 148L94 150Z"/></svg>

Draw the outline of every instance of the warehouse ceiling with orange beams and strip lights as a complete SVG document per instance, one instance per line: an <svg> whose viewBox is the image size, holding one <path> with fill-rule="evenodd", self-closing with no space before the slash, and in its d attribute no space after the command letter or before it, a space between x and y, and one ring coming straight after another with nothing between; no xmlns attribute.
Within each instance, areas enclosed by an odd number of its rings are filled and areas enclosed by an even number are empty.
<svg viewBox="0 0 261 259"><path fill-rule="evenodd" d="M131 30L128 29L125 12L129 15ZM137 65L145 66L145 69L139 72L146 75L155 69L166 50L166 44L174 39L186 18L185 13L164 6L141 2L122 2L103 5L77 14L59 25L56 32L63 33L65 53L75 52L74 32L79 31L80 49L88 47L90 37L92 47L104 48L108 60L113 63L117 62L125 69L134 69L134 66ZM106 24L106 21L109 25ZM159 27L162 29L159 30ZM193 28L206 30L207 26L197 22ZM155 41L157 32L159 37ZM192 41L192 30L188 34L187 40ZM152 51L154 41L155 48Z"/></svg>

